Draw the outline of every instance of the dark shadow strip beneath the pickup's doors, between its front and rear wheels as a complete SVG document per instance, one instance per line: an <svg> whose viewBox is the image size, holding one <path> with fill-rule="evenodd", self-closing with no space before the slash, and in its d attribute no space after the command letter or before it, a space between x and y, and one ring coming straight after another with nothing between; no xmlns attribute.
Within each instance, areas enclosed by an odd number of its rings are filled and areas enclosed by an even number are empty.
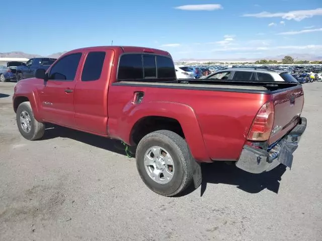
<svg viewBox="0 0 322 241"><path fill-rule="evenodd" d="M75 131L69 128L46 124L46 131L42 140L54 139L57 137L72 139L77 142L82 142L93 147L126 156L125 147L118 140L112 140L85 132Z"/></svg>

